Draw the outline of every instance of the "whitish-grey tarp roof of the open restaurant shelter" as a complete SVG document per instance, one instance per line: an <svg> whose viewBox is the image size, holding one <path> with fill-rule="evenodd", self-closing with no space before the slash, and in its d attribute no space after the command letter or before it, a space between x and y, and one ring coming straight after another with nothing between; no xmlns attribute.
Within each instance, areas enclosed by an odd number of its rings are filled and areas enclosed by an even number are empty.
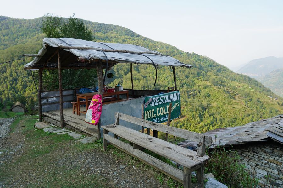
<svg viewBox="0 0 283 188"><path fill-rule="evenodd" d="M24 68L58 68L57 50L60 52L63 69L92 68L96 67L96 62L99 60L102 60L103 67L105 67L105 55L107 56L108 67L116 63L136 63L192 68L191 65L182 63L173 57L163 55L142 46L92 42L72 38L44 38L43 48L39 50L35 59L26 64ZM78 61L78 57L81 57L80 61Z"/></svg>

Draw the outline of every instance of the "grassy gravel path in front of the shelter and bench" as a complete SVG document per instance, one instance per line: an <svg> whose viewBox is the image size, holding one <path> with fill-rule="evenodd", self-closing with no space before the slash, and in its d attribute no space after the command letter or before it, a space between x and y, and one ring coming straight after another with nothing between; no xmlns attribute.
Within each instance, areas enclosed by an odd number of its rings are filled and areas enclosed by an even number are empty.
<svg viewBox="0 0 283 188"><path fill-rule="evenodd" d="M168 187L156 170L124 152L36 130L36 118L17 118L0 139L0 187Z"/></svg>

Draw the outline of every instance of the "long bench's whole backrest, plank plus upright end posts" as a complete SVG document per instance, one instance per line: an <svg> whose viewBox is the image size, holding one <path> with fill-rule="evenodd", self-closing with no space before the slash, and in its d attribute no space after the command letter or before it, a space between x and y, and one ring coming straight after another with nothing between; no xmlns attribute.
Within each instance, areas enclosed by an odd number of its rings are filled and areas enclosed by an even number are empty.
<svg viewBox="0 0 283 188"><path fill-rule="evenodd" d="M184 138L190 141L194 141L198 143L198 156L204 155L205 145L210 146L212 143L212 137L204 136L200 133L191 132L185 129L180 129L176 127L171 127L167 125L163 125L161 123L155 123L148 120L144 120L141 118L132 117L123 113L116 112L115 114L115 125L119 124L119 120L124 120L130 123L134 123L136 125L140 125L143 127L151 128L153 130L157 130L163 133L171 134L180 138Z"/></svg>

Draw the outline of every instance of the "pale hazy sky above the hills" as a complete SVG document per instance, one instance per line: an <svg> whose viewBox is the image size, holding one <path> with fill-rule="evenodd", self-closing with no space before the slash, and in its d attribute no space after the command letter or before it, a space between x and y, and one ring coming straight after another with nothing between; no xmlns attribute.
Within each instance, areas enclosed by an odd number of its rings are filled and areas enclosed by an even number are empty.
<svg viewBox="0 0 283 188"><path fill-rule="evenodd" d="M0 15L45 13L117 24L145 37L236 67L283 57L283 1L2 1Z"/></svg>

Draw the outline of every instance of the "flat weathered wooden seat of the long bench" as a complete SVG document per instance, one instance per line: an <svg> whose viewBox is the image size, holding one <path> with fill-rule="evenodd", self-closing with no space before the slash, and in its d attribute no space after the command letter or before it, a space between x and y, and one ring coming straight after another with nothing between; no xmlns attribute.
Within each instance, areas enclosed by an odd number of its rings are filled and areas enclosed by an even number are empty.
<svg viewBox="0 0 283 188"><path fill-rule="evenodd" d="M180 165L194 170L197 169L201 165L201 163L209 159L207 155L198 157L197 152L195 151L182 148L178 145L171 144L159 138L140 133L121 125L107 125L102 126L102 128L116 134L121 138L125 138L132 143L138 144L148 150L162 155L167 159L173 160Z"/></svg>

